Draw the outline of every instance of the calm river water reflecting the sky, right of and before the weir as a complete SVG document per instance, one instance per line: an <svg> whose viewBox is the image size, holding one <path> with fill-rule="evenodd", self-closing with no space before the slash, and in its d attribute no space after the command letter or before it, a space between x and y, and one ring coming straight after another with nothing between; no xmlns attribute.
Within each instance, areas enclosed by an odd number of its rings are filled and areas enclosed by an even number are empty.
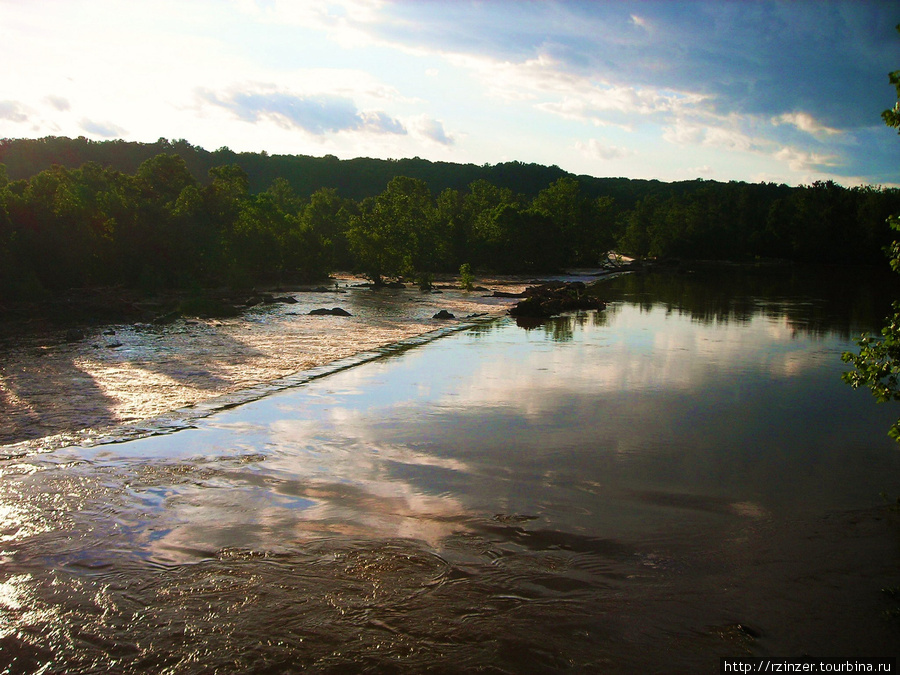
<svg viewBox="0 0 900 675"><path fill-rule="evenodd" d="M174 433L9 453L0 672L895 656L898 411L840 380L876 288L625 275L602 312L446 331Z"/></svg>

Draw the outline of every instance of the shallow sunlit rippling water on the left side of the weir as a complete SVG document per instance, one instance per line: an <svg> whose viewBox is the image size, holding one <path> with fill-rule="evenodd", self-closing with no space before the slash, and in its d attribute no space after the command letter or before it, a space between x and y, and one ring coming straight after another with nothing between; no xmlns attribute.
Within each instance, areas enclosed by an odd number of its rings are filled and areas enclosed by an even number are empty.
<svg viewBox="0 0 900 675"><path fill-rule="evenodd" d="M238 319L93 327L78 343L61 334L17 338L3 347L0 366L2 454L181 429L210 411L471 325L431 319L437 307L496 315L509 304L452 291L293 297L296 304L251 308ZM353 316L308 315L323 304Z"/></svg>

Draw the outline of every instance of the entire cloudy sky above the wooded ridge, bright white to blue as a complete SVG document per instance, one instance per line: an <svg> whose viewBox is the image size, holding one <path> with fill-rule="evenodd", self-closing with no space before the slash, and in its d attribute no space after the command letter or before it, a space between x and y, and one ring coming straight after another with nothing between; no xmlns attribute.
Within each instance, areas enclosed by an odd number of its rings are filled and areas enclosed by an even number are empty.
<svg viewBox="0 0 900 675"><path fill-rule="evenodd" d="M900 186L900 3L0 0L0 138Z"/></svg>

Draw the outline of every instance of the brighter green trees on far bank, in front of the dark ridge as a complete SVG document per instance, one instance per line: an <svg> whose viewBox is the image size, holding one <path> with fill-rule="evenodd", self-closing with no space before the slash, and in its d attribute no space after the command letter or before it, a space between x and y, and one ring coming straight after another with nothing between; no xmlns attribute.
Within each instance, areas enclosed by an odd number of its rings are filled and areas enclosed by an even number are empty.
<svg viewBox="0 0 900 675"><path fill-rule="evenodd" d="M284 178L252 194L233 164L209 178L199 183L175 154L133 175L87 163L9 181L0 165L0 289L247 286L340 269L427 287L464 263L508 273L594 264L614 241L611 200L570 177L529 200L484 180L434 196L397 176L361 201L334 188L304 199Z"/></svg>

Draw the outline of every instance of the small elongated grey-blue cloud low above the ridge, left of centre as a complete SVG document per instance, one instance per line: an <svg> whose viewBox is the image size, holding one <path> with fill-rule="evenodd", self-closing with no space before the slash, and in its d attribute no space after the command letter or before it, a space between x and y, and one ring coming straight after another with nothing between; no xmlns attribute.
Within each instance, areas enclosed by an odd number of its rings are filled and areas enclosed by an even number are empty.
<svg viewBox="0 0 900 675"><path fill-rule="evenodd" d="M245 122L271 120L286 128L322 136L341 131L406 134L403 124L381 111L360 112L352 99L335 94L300 95L282 91L234 92L219 95L200 89L198 96L230 110Z"/></svg>

